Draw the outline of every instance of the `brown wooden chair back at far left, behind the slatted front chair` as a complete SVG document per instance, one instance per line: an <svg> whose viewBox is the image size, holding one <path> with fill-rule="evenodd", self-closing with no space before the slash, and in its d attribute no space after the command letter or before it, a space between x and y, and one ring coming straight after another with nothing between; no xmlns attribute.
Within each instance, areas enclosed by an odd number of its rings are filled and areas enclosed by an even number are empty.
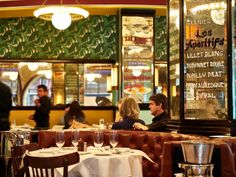
<svg viewBox="0 0 236 177"><path fill-rule="evenodd" d="M11 158L12 158L12 167L13 167L13 176L14 177L23 177L24 168L23 168L23 155L25 151L34 151L38 149L37 143L25 144L21 146L13 146L11 148Z"/></svg>

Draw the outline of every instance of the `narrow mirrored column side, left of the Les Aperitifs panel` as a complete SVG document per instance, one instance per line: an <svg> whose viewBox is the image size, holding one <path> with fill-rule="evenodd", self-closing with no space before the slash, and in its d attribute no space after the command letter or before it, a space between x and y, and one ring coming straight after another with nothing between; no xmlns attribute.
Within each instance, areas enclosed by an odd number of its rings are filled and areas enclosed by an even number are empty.
<svg viewBox="0 0 236 177"><path fill-rule="evenodd" d="M169 1L169 74L171 119L180 119L179 115L179 0Z"/></svg>

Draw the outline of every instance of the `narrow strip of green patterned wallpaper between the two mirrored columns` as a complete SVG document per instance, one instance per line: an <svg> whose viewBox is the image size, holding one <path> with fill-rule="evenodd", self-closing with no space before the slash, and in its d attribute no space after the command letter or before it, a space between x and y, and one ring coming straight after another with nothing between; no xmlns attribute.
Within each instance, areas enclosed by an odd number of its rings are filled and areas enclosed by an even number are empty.
<svg viewBox="0 0 236 177"><path fill-rule="evenodd" d="M155 59L167 60L166 16L157 16L155 23Z"/></svg>

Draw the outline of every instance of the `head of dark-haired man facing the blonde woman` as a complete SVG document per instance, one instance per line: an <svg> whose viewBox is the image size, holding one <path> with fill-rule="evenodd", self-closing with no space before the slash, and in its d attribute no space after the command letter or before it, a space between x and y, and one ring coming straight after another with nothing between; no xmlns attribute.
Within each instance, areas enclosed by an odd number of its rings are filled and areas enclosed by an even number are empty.
<svg viewBox="0 0 236 177"><path fill-rule="evenodd" d="M158 116L167 109L167 98L164 94L158 93L149 98L149 109L153 116Z"/></svg>

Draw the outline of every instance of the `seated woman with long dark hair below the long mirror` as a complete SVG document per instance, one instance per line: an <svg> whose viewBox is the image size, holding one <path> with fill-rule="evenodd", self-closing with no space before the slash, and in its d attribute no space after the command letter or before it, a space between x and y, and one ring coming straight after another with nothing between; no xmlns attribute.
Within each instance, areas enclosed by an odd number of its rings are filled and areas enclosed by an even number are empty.
<svg viewBox="0 0 236 177"><path fill-rule="evenodd" d="M78 101L73 101L69 110L66 112L64 116L65 129L69 128L73 122L81 122L85 123L85 115L78 103Z"/></svg>

